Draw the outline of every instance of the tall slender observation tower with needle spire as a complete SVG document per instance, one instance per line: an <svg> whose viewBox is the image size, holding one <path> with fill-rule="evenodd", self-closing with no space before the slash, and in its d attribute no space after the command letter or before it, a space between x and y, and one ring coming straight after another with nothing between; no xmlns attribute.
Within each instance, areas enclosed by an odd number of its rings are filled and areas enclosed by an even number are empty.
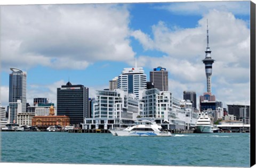
<svg viewBox="0 0 256 168"><path fill-rule="evenodd" d="M206 80L207 80L207 92L211 93L211 75L212 75L212 64L215 60L211 57L211 51L209 47L209 34L208 34L208 20L207 20L207 47L205 51L205 58L203 60L203 63L205 65L205 74L206 74Z"/></svg>

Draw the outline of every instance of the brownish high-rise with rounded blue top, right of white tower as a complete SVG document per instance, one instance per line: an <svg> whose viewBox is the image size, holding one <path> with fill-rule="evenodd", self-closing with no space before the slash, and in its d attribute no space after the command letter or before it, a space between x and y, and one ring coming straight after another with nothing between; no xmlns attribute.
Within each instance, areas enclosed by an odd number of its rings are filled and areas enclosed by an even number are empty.
<svg viewBox="0 0 256 168"><path fill-rule="evenodd" d="M154 71L150 71L150 82L154 83L154 88L160 91L168 91L168 71L162 66L154 68Z"/></svg>

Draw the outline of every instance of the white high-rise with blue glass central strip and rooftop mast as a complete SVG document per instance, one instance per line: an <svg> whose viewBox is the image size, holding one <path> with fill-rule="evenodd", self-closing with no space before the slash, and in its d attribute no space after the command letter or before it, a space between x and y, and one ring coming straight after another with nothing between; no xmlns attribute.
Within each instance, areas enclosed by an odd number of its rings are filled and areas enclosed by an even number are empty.
<svg viewBox="0 0 256 168"><path fill-rule="evenodd" d="M124 68L118 77L118 89L135 94L139 98L139 90L147 88L147 75L143 68Z"/></svg>

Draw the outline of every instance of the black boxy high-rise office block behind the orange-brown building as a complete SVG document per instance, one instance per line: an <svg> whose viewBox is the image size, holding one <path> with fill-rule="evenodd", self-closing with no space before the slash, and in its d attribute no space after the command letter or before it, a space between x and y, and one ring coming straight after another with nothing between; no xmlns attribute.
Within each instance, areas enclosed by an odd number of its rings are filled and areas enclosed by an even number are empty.
<svg viewBox="0 0 256 168"><path fill-rule="evenodd" d="M79 127L89 112L89 88L67 82L57 88L57 115L69 116L70 124Z"/></svg>

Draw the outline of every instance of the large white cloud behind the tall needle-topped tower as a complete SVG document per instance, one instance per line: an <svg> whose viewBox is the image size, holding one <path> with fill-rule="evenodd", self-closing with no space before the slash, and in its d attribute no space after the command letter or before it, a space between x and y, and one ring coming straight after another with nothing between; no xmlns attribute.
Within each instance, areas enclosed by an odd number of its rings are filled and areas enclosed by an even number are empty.
<svg viewBox="0 0 256 168"><path fill-rule="evenodd" d="M141 31L133 33L146 51L155 49L166 53L162 57L139 56L140 66L166 68L170 72L169 85L174 95L181 97L186 89L197 91L198 96L203 95L206 77L202 60L206 50L207 19L211 55L215 60L212 90L216 92L213 94L222 102L250 101L250 29L245 21L236 19L230 12L211 10L203 15L195 28L173 30L161 21L153 26L152 38L145 38L149 36Z"/></svg>

